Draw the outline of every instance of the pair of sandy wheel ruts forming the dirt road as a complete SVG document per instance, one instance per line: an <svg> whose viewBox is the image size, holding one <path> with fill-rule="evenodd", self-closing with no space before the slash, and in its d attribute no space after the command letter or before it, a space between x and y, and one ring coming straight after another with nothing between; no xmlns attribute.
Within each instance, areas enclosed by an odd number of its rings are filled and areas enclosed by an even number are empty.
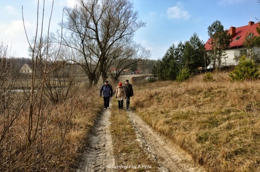
<svg viewBox="0 0 260 172"><path fill-rule="evenodd" d="M206 171L168 138L153 131L132 109L126 112L135 128L140 146L159 164L158 171ZM110 109L103 111L75 171L113 171L111 167L116 163L109 131L110 116Z"/></svg>

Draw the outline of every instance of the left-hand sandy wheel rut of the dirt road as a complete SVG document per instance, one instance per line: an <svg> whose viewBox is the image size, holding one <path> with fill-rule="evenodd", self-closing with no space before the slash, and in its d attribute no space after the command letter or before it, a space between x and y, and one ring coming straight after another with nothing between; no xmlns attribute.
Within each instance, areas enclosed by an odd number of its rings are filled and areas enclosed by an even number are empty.
<svg viewBox="0 0 260 172"><path fill-rule="evenodd" d="M110 101L110 107L112 107ZM75 172L112 171L115 164L110 134L110 109L104 110L88 136L87 144Z"/></svg>

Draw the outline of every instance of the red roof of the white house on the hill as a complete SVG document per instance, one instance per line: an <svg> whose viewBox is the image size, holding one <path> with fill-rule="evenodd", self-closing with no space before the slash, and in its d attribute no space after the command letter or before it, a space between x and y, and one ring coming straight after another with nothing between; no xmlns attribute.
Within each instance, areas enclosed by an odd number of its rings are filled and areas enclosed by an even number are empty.
<svg viewBox="0 0 260 172"><path fill-rule="evenodd" d="M246 25L246 26L236 27L236 33L232 37L233 41L230 43L229 48L244 46L243 41L245 39L246 34L249 32L254 33L255 36L259 36L259 34L256 31L256 27L260 28L259 23L251 24L251 26ZM230 33L230 29L228 30L228 33ZM241 37L238 40L235 40L239 36L241 36ZM206 51L211 50L211 45L209 44L210 41L211 41L211 39L209 39L205 43Z"/></svg>

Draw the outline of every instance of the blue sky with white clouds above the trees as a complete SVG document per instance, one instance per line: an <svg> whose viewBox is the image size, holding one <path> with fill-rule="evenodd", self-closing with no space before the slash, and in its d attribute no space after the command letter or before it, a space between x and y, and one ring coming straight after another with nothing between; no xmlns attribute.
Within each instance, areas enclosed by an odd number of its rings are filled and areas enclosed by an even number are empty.
<svg viewBox="0 0 260 172"><path fill-rule="evenodd" d="M28 41L35 35L38 0L0 0L0 38L15 57L28 58ZM75 0L54 0L50 31L60 27L64 6L73 7ZM52 0L45 0L43 33L47 33ZM23 7L23 15L22 15ZM40 0L39 16L42 16ZM150 59L163 58L172 44L188 41L197 33L204 43L208 40L208 26L219 20L224 29L240 27L260 19L258 0L133 0L139 20L145 27L135 32L135 42L151 52ZM41 19L41 17L39 17ZM256 19L257 18L257 19ZM25 29L23 27L23 19ZM40 22L39 25L42 23Z"/></svg>

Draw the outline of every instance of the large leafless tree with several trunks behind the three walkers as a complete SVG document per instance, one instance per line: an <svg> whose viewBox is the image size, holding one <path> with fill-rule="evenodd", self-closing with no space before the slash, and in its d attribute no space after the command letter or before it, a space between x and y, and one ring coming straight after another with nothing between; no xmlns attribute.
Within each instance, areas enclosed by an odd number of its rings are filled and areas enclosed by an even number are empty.
<svg viewBox="0 0 260 172"><path fill-rule="evenodd" d="M67 22L64 28L69 36L63 44L78 51L88 75L89 86L96 85L100 76L107 78L110 61L121 57L124 44L133 38L136 30L145 26L138 21L138 12L130 0L79 0L73 8L65 8ZM124 50L123 50L124 51ZM118 57L116 54L120 54Z"/></svg>

